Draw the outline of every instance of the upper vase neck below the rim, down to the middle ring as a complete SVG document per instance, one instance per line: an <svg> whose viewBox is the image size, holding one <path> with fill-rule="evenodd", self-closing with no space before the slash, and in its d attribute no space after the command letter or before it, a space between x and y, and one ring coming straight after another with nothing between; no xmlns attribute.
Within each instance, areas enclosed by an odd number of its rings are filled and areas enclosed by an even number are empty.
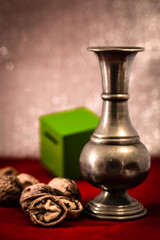
<svg viewBox="0 0 160 240"><path fill-rule="evenodd" d="M97 55L102 75L102 98L108 95L115 97L116 94L119 94L119 97L127 99L130 69L136 53L128 55L126 52L123 52L123 54L119 52L98 52Z"/></svg>

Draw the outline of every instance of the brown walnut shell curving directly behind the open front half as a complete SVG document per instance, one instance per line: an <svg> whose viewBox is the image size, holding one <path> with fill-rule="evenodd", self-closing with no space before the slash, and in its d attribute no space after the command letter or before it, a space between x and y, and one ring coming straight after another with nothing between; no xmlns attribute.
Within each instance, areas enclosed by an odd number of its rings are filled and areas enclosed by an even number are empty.
<svg viewBox="0 0 160 240"><path fill-rule="evenodd" d="M37 183L26 187L20 197L20 205L22 210L28 214L29 206L32 201L38 197L48 194L54 195L54 189L44 183Z"/></svg>

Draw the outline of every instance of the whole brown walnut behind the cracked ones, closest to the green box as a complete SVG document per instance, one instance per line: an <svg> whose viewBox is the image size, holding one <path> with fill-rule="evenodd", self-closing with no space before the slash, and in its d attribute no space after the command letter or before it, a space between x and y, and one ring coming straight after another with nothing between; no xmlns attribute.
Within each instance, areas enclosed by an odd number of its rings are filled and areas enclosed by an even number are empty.
<svg viewBox="0 0 160 240"><path fill-rule="evenodd" d="M79 188L75 181L67 178L53 178L49 183L49 186L54 188L55 194L57 196L65 196L68 198L73 198L81 200L81 195Z"/></svg>

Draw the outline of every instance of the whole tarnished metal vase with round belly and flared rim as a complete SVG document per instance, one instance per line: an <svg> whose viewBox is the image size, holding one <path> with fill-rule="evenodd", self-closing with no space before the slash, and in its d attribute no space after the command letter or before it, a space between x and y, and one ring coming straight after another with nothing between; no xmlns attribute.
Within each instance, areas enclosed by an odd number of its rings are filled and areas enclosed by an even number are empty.
<svg viewBox="0 0 160 240"><path fill-rule="evenodd" d="M128 84L138 47L89 47L99 59L102 75L100 122L80 155L83 177L101 193L85 212L100 219L130 220L146 209L127 189L141 184L150 169L150 157L132 126L128 113Z"/></svg>

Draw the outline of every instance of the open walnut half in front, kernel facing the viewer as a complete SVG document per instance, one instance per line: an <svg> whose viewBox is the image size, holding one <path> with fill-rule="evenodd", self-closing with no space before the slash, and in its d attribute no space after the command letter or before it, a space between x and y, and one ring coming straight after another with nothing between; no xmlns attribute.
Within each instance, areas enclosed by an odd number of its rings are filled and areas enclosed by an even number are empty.
<svg viewBox="0 0 160 240"><path fill-rule="evenodd" d="M45 195L32 201L29 214L34 224L49 227L65 219L67 208L58 197Z"/></svg>

